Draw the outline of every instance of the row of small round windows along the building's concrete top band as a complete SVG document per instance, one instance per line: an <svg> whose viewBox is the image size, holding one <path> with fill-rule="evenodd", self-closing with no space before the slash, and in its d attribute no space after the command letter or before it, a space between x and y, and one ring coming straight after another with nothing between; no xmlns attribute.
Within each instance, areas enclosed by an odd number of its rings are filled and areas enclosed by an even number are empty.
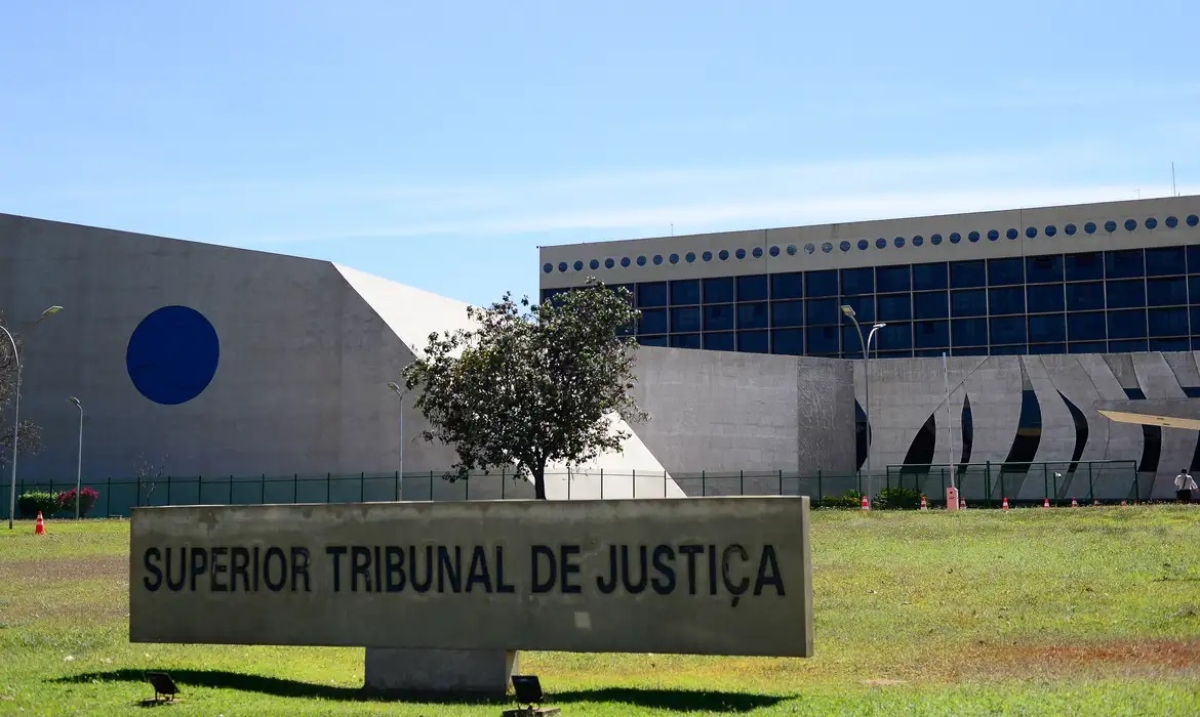
<svg viewBox="0 0 1200 717"><path fill-rule="evenodd" d="M1168 229L1175 229L1180 225L1180 223L1181 223L1180 218L1176 216L1169 216L1163 221L1163 224ZM1184 217L1183 223L1186 223L1188 227L1200 225L1200 216L1188 215L1187 217ZM1157 229L1158 219L1156 217L1147 217L1141 225L1148 230ZM1118 227L1117 222L1112 219L1109 219L1103 224L1104 231L1106 231L1108 234L1116 233L1117 227ZM1139 224L1136 219L1124 219L1120 224L1120 227L1124 227L1126 231L1134 231L1139 228ZM1084 234L1092 235L1100 230L1100 225L1098 225L1096 222L1086 222L1082 227L1082 230ZM1063 225L1062 231L1067 236L1074 236L1079 231L1079 228L1075 224L1068 223ZM1043 229L1040 229L1040 233L1046 237L1054 237L1058 234L1058 227L1056 224L1048 224ZM1009 240L1016 240L1021 236L1021 234L1022 233L1019 229L1010 227L1008 230L1004 231L1003 236L1008 237ZM1039 229L1037 227L1026 227L1024 234L1026 239L1037 239ZM989 229L985 234L982 234L979 231L968 231L966 235L962 235L958 231L953 231L948 236L948 240L950 243L959 243L964 239L966 239L966 241L968 242L978 242L984 236L986 236L989 241L1000 241L1001 233L998 229ZM864 252L872 245L872 242L866 239L859 239L854 243L857 243L859 251ZM838 242L838 248L840 248L842 252L848 252L851 247L854 246L854 243L851 243L848 240L842 240ZM904 236L896 236L890 241L890 245L898 249L904 248L905 245L910 243L913 247L924 246L925 237L918 234L916 236L912 236L911 239L906 239ZM942 235L931 234L929 236L929 243L932 246L940 246L942 243ZM876 239L874 242L874 246L877 249L886 249L888 245L889 245L888 240L882 236ZM827 241L821 243L820 248L822 253L830 254L833 253L834 243L832 241ZM680 261L684 261L686 264L695 264L697 259L706 263L713 260L728 261L730 259L737 259L740 261L743 259L746 259L748 257L754 259L762 259L764 255L779 257L781 253L785 252L787 253L788 257L794 257L798 253L800 253L800 251L802 249L797 245L788 245L786 248L780 246L772 246L767 249L763 249L763 247L752 247L750 249L736 248L732 252L730 249L719 249L716 252L703 251L700 253L688 252L685 254L673 253L673 254L667 254L666 257L664 257L664 254L653 254L653 255L641 254L634 259L629 257L622 257L619 260L617 258L608 257L602 261L600 259L590 259L587 263L584 263L582 259L576 259L571 264L568 264L566 261L559 261L558 271L563 273L570 271L571 269L574 269L575 271L583 271L584 266L587 266L592 271L598 271L601 265L604 265L605 269L616 269L618 264L620 264L623 269L628 269L634 264L638 266L646 266L647 264L660 266L664 261L667 261L670 264L679 264ZM803 251L805 254L815 254L817 251L817 245L811 242L806 243L804 245ZM554 265L550 263L542 264L541 270L544 273L551 273L554 271Z"/></svg>

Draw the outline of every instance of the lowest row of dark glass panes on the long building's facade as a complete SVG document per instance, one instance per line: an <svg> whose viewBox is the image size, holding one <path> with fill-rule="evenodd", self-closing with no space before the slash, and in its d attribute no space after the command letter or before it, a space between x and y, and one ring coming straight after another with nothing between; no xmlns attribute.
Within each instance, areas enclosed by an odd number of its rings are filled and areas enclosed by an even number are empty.
<svg viewBox="0 0 1200 717"><path fill-rule="evenodd" d="M774 331L722 331L710 333L674 333L647 336L638 339L648 347L708 349L712 351L748 351L755 354L786 354L792 356L827 356L860 358L862 351L839 351L838 335L830 329L776 329ZM1200 350L1200 336L1177 338L1138 338L1114 341L1079 341L1058 343L1020 343L996 347L934 347L887 349L872 356L884 358L941 356L1003 356L1021 354L1104 354L1130 351L1189 351Z"/></svg>

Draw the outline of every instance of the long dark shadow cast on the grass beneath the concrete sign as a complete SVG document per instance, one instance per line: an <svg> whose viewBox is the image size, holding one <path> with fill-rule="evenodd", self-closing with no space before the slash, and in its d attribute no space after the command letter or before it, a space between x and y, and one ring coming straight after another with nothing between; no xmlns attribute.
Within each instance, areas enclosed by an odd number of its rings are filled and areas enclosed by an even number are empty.
<svg viewBox="0 0 1200 717"><path fill-rule="evenodd" d="M242 673L230 673L227 670L166 670L167 674L179 685L180 700L186 699L188 687L208 687L212 689L236 689L239 692L252 692L280 698L301 699L326 699L342 701L421 701L445 705L508 705L511 700L503 698L486 697L458 697L445 694L404 694L382 695L365 691L360 687L337 687L334 685L314 685L299 680L287 680L283 677L268 677L263 675L247 675ZM100 673L84 673L66 677L56 677L52 682L145 682L145 670L108 670ZM150 689L149 683L146 689ZM744 694L732 692L698 692L688 689L638 689L610 687L601 689L586 689L574 692L550 692L546 703L551 705L568 705L572 703L614 703L634 705L644 709L668 710L676 712L750 712L760 707L775 705L786 697L773 697L761 694ZM138 703L144 707L168 705L162 701L148 699Z"/></svg>

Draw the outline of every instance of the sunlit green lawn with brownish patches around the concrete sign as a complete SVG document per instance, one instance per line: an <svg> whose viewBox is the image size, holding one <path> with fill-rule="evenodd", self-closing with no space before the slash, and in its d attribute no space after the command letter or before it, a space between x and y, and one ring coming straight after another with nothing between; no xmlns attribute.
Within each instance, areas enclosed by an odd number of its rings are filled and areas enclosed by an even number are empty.
<svg viewBox="0 0 1200 717"><path fill-rule="evenodd" d="M1198 715L1200 510L817 511L810 659L522 653L576 715ZM0 715L488 715L364 700L362 650L131 645L128 524L0 528Z"/></svg>

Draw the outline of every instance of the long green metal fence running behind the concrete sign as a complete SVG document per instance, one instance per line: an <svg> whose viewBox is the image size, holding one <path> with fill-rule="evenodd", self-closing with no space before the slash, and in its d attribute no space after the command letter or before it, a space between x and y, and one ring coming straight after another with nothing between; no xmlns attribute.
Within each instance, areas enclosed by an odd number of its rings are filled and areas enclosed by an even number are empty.
<svg viewBox="0 0 1200 717"><path fill-rule="evenodd" d="M1139 478L1134 462L1078 462L1037 464L966 464L955 466L955 484L968 504L1000 505L1009 502L1069 502L1079 500L1117 501L1147 499L1150 483ZM952 469L944 465L888 466L868 475L817 471L800 475L787 471L722 471L673 474L634 471L590 474L551 474L548 487L574 499L667 498L709 495L808 495L815 501L834 502L850 492L880 495L894 487L914 488L929 496L932 505L944 501ZM450 482L443 472L290 475L290 476L163 476L104 477L83 482L100 493L89 517L125 517L136 506L170 505L263 505L328 504L432 500L496 500L533 498L533 488L505 474L480 474ZM677 489L674 489L677 487ZM64 493L74 488L74 480L18 481L17 495L31 492ZM0 495L2 514L8 514L7 490ZM73 505L73 504L72 504ZM18 498L19 508L19 498ZM62 511L73 514L73 507Z"/></svg>

